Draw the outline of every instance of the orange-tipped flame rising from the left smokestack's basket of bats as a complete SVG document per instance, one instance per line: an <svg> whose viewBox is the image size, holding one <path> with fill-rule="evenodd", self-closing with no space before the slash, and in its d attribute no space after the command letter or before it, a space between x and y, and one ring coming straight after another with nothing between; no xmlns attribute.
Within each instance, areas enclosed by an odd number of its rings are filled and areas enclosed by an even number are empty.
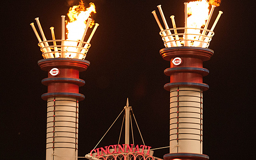
<svg viewBox="0 0 256 160"><path fill-rule="evenodd" d="M68 18L69 22L66 21L66 28L68 30L67 40L79 41L84 34L84 30L86 28L87 20L90 18L91 13L96 13L94 3L89 4L90 7L85 8L83 1L79 3L77 6L70 7L68 10ZM94 25L94 20L90 22L90 28ZM65 46L78 46L77 42L65 42ZM73 58L76 54L72 52L76 52L76 47L66 47L66 51L69 53L66 54L66 58Z"/></svg>

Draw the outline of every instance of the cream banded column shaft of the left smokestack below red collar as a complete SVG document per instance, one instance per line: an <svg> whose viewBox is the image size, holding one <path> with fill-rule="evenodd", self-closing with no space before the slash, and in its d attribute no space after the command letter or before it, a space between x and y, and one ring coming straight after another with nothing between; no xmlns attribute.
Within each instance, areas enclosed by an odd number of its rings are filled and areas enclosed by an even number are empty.
<svg viewBox="0 0 256 160"><path fill-rule="evenodd" d="M46 160L77 160L78 100L51 97L47 100Z"/></svg>

